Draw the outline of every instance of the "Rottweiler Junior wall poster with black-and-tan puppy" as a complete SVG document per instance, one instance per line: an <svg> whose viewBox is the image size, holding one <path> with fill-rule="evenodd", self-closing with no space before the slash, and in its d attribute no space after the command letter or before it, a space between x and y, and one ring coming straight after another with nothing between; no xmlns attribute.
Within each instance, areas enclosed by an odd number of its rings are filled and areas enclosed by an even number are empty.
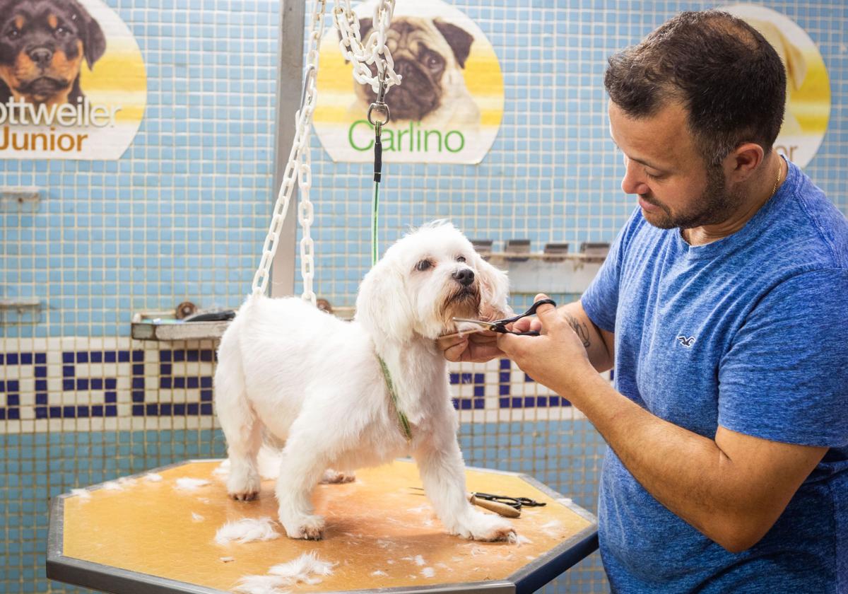
<svg viewBox="0 0 848 594"><path fill-rule="evenodd" d="M141 124L136 40L102 0L0 0L0 157L116 160Z"/></svg>

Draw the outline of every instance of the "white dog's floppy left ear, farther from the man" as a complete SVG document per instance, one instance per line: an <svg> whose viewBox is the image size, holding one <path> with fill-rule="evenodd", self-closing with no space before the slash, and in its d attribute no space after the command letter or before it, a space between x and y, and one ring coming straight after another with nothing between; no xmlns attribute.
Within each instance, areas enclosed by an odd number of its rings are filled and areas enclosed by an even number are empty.
<svg viewBox="0 0 848 594"><path fill-rule="evenodd" d="M356 296L355 319L371 333L377 348L389 340L412 339L412 305L397 263L383 258L365 275Z"/></svg>

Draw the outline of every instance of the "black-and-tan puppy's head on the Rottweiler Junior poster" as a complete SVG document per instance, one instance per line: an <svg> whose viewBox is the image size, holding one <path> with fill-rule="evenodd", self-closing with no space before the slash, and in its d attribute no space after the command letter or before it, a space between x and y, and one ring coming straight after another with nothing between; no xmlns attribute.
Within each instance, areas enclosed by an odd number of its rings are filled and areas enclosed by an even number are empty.
<svg viewBox="0 0 848 594"><path fill-rule="evenodd" d="M34 104L67 101L82 59L106 51L97 21L76 0L0 0L0 80Z"/></svg>

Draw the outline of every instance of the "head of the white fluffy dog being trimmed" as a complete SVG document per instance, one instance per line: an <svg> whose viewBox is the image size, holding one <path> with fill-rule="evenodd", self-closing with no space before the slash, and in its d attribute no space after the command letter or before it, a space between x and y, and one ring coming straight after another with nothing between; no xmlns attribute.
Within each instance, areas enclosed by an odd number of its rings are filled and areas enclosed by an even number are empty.
<svg viewBox="0 0 848 594"><path fill-rule="evenodd" d="M484 261L453 225L435 221L401 238L360 285L356 319L378 340L453 332L452 317L510 312L506 273Z"/></svg>

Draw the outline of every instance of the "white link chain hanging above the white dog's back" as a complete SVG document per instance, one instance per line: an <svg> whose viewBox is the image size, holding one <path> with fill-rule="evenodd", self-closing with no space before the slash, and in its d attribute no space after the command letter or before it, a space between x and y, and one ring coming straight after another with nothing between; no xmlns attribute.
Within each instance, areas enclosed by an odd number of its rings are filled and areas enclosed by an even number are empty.
<svg viewBox="0 0 848 594"><path fill-rule="evenodd" d="M365 47L360 42L359 19L350 9L349 0L334 1L334 20L342 38L340 47L345 59L354 64L354 78L360 83L371 84L375 92L380 87L381 76L385 76L387 88L392 84L399 84L400 77L394 73L392 55L385 45L386 31L391 24L394 12L394 0L380 0L377 3L377 8L374 10L374 31L368 37L368 41L365 42ZM321 37L324 35L326 2L327 0L315 0L313 3L309 46L306 53L304 92L300 101L300 109L294 116L296 128L292 150L288 154L286 170L282 176L280 191L276 196L274 216L271 218L271 227L268 229L265 244L262 246L262 258L259 261L259 269L254 275L253 283L254 294L265 294L268 289L268 279L271 277L271 262L274 260L277 246L280 243L282 223L286 219L288 203L292 199L294 183L297 181L300 195L298 222L304 230L303 238L300 240L300 274L304 279L304 292L301 297L304 300L311 301L312 305L315 305L315 292L312 290L312 279L315 274L315 244L310 235L310 226L315 219L315 211L310 202L310 188L312 187L310 131L312 129L312 115L315 113L315 104L318 100L316 84L318 80L318 50L321 45ZM344 3L344 7L340 6L340 3ZM371 74L371 70L366 64L377 64L377 76Z"/></svg>

